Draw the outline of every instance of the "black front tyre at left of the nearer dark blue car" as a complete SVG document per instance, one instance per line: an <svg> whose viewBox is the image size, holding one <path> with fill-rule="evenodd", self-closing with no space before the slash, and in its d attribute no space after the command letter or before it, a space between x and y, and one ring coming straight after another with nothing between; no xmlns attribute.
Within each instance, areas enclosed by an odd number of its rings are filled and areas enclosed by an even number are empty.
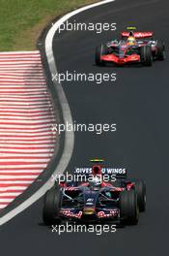
<svg viewBox="0 0 169 256"><path fill-rule="evenodd" d="M60 223L60 190L58 187L52 187L44 195L42 220L45 225Z"/></svg>

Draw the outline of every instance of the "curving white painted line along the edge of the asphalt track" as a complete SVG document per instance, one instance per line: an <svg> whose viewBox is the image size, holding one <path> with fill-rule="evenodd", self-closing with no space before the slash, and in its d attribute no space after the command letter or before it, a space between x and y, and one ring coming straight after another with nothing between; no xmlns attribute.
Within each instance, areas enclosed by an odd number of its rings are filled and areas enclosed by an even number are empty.
<svg viewBox="0 0 169 256"><path fill-rule="evenodd" d="M75 10L73 12L70 12L70 14L61 17L58 21L56 21L53 26L50 28L50 30L47 33L47 36L45 38L45 52L47 56L47 61L50 69L51 74L56 74L57 73L57 68L55 65L55 60L53 56L53 49L52 49L52 44L53 44L53 37L54 34L56 33L57 29L59 26L64 23L66 20L68 20L71 16L75 16L77 14L80 14L84 11L87 11L89 9L112 3L115 0L105 0L101 1L96 4L92 4L83 8L80 8L78 10ZM72 123L72 118L71 118L71 113L70 113L70 106L67 101L66 95L64 93L64 90L61 86L61 84L55 84L57 91L58 91L58 96L59 100L62 106L62 112L64 116L65 122L68 121L69 123ZM60 162L58 166L56 167L56 170L53 175L56 174L63 174L70 162L70 157L73 151L73 144L74 144L74 134L73 132L67 132L66 133L66 138L65 138L65 147L64 147L64 152L62 154L62 157L60 159ZM0 219L0 225L3 225L4 223L8 222L10 219L12 219L15 215L20 213L22 210L25 208L28 208L32 204L34 204L37 200L39 200L42 195L46 192L47 189L49 189L51 186L53 186L53 183L51 182L51 179L49 179L35 194L33 194L29 199L24 201L21 205L19 205L17 208L14 208L12 211L4 215Z"/></svg>

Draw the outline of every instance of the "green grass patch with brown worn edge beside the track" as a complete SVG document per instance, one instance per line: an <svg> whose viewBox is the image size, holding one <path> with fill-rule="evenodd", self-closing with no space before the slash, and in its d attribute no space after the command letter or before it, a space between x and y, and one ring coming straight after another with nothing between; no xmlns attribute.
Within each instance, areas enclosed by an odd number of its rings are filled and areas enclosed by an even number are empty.
<svg viewBox="0 0 169 256"><path fill-rule="evenodd" d="M0 0L0 50L35 49L42 28L56 16L96 0Z"/></svg>

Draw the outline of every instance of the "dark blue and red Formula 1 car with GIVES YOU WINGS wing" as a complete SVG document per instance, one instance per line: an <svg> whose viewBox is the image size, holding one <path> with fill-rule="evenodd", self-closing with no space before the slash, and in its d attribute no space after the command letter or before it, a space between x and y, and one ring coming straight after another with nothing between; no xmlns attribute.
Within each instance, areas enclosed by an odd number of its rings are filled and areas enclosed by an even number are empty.
<svg viewBox="0 0 169 256"><path fill-rule="evenodd" d="M137 224L139 211L146 209L145 182L127 180L126 169L103 167L96 161L92 167L75 168L75 180L56 181L46 192L42 210L45 225L64 219Z"/></svg>

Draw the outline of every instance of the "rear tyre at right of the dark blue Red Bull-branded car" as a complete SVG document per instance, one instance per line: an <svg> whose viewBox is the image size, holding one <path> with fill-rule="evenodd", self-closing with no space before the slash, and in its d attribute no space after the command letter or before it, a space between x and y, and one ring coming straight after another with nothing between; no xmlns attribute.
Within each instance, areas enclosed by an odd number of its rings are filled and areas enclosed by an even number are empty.
<svg viewBox="0 0 169 256"><path fill-rule="evenodd" d="M143 180L135 181L135 192L137 194L137 202L140 211L146 210L146 184Z"/></svg>

